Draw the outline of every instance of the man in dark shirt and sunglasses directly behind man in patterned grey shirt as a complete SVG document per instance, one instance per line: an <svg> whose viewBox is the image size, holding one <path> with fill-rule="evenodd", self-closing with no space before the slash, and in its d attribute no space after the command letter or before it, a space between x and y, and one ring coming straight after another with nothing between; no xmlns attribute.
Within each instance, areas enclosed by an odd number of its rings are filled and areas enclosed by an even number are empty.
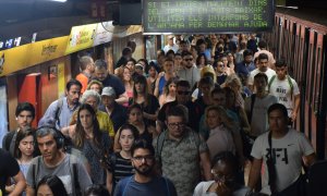
<svg viewBox="0 0 327 196"><path fill-rule="evenodd" d="M197 103L192 102L191 86L187 81L179 81L177 83L175 100L165 103L159 110L156 127L157 132L161 133L167 127L165 124L166 113L170 108L175 107L177 105L183 105L187 108L187 125L194 131L198 132L198 120L203 111Z"/></svg>

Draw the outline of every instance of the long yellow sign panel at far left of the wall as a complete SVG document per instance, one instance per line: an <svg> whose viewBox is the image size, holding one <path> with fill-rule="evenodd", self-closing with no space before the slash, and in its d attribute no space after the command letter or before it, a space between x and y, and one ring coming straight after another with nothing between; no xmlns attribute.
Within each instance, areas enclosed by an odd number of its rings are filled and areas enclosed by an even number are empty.
<svg viewBox="0 0 327 196"><path fill-rule="evenodd" d="M69 36L0 51L0 76L64 56Z"/></svg>

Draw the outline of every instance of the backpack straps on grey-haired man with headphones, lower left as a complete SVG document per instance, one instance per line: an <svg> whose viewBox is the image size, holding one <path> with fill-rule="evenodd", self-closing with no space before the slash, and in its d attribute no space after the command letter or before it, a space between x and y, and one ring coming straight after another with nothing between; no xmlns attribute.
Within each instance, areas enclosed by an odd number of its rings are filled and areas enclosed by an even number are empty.
<svg viewBox="0 0 327 196"><path fill-rule="evenodd" d="M35 185L34 187L35 189L37 185L36 179L39 172L40 160L41 160L41 156L38 156L36 163L32 164L32 173L33 173L32 177L33 177L33 184ZM82 195L83 192L78 182L77 158L75 156L69 155L69 164L70 164L70 173L72 179L72 187L74 187L73 194L75 193L74 195Z"/></svg>

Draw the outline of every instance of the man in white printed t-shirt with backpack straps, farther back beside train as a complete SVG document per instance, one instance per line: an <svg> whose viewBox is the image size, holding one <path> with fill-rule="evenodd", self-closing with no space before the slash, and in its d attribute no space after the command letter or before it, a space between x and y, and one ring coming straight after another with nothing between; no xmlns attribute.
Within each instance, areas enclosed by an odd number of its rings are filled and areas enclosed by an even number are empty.
<svg viewBox="0 0 327 196"><path fill-rule="evenodd" d="M276 61L276 76L268 82L269 94L277 97L278 102L288 109L291 122L294 122L300 108L300 90L296 82L288 75L284 60ZM294 98L294 99L293 99Z"/></svg>

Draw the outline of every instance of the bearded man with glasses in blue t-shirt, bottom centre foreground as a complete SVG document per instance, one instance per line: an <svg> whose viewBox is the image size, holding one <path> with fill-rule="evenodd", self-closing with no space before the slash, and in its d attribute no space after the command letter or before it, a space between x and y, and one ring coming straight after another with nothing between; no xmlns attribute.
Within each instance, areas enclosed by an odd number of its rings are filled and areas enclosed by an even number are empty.
<svg viewBox="0 0 327 196"><path fill-rule="evenodd" d="M135 140L131 155L135 174L118 183L114 196L177 196L175 188L168 179L155 175L155 149L152 144L144 139Z"/></svg>

